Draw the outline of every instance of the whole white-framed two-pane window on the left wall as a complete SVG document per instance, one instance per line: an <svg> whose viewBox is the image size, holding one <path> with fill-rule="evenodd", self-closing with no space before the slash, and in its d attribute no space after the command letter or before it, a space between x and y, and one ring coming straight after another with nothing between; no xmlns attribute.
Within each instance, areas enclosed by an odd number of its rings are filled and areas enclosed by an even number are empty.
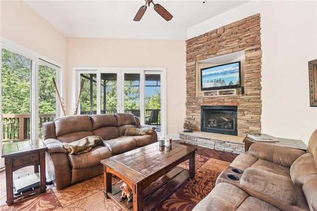
<svg viewBox="0 0 317 211"><path fill-rule="evenodd" d="M59 81L60 67L40 57L1 41L1 142L41 139L42 123L58 114L53 79Z"/></svg>

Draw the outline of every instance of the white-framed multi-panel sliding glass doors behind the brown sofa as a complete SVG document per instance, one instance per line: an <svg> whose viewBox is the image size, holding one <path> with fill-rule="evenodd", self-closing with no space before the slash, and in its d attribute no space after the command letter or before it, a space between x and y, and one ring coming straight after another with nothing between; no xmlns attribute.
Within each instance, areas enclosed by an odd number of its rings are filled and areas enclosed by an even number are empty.
<svg viewBox="0 0 317 211"><path fill-rule="evenodd" d="M76 69L76 73L80 114L131 113L141 124L152 125L160 136L164 134L163 70L85 68Z"/></svg>

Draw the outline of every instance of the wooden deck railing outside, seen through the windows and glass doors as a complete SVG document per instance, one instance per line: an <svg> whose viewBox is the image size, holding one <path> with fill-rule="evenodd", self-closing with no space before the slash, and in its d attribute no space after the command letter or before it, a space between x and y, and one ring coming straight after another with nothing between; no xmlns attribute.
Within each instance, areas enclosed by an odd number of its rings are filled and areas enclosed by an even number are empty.
<svg viewBox="0 0 317 211"><path fill-rule="evenodd" d="M94 114L95 111L93 111ZM134 116L140 116L140 110L125 110L126 113L131 113ZM114 114L116 110L104 110L102 114ZM145 116L151 116L152 109L145 110ZM81 114L90 115L91 112L81 112ZM31 121L30 114L3 114L2 121L2 141L24 141L31 138ZM54 120L55 114L40 114L39 115L39 136L43 137L42 123L51 122ZM158 123L160 125L160 112Z"/></svg>

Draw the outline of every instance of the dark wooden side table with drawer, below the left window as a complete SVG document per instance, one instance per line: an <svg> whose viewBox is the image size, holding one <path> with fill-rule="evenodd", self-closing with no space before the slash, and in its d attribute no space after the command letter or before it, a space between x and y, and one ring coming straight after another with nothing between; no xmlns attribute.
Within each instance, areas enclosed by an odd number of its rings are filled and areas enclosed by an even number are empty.
<svg viewBox="0 0 317 211"><path fill-rule="evenodd" d="M20 141L4 143L2 147L2 158L5 164L6 177L6 204L12 205L15 199L28 196L33 193L46 191L45 178L45 151L47 146L40 140ZM34 166L34 172L39 172L40 166L40 188L28 191L18 196L13 195L13 171L27 166Z"/></svg>

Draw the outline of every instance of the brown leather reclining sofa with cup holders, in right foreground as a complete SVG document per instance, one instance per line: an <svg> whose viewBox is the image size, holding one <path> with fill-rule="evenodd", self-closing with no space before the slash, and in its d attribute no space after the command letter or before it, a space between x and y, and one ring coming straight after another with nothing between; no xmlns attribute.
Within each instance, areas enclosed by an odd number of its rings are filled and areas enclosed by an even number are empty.
<svg viewBox="0 0 317 211"><path fill-rule="evenodd" d="M307 153L252 144L220 173L215 187L193 209L235 210L317 211L317 130Z"/></svg>

